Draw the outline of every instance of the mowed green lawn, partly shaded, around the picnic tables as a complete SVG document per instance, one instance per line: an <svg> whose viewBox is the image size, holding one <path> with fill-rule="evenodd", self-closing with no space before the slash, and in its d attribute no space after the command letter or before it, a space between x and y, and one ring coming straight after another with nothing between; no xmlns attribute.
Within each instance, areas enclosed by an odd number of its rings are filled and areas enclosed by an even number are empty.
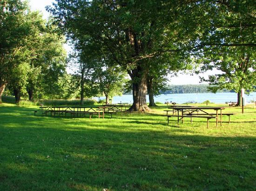
<svg viewBox="0 0 256 191"><path fill-rule="evenodd" d="M206 119L168 126L166 108L89 120L2 104L0 190L255 190L255 106L227 108L231 124L209 129Z"/></svg>

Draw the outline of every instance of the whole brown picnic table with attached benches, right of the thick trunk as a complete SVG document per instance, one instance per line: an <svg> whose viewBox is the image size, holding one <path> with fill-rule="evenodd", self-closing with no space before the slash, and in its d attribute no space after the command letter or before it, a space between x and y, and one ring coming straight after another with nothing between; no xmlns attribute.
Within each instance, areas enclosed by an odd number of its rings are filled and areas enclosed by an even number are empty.
<svg viewBox="0 0 256 191"><path fill-rule="evenodd" d="M216 119L216 127L218 126L218 122L220 122L222 126L222 110L225 109L225 107L195 107L195 106L171 106L169 108L173 109L172 110L173 113L174 113L174 110L177 111L177 115L168 115L168 111L171 111L171 110L165 110L167 111L167 115L165 116L167 116L168 118L177 117L178 123L180 120L182 120L182 123L183 123L184 117L190 117L191 122L192 122L192 117L207 118L207 127L208 127L209 119L214 119L214 118ZM210 110L215 110L216 113L209 113ZM201 113L198 114L198 112L201 112ZM219 115L220 115L220 120L219 120ZM233 114L224 114L224 115L229 115L229 123L230 123L230 115L233 115Z"/></svg>

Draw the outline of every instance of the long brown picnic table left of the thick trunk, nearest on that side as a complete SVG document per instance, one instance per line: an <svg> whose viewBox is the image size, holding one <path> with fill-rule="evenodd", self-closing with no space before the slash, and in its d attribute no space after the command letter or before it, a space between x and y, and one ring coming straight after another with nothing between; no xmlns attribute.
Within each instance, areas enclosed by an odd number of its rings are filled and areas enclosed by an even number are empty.
<svg viewBox="0 0 256 191"><path fill-rule="evenodd" d="M83 106L83 107L69 107L69 106L41 106L39 107L42 110L42 114L47 115L47 113L52 113L55 115L55 113L60 114L64 114L65 115L67 113L71 114L71 115L75 115L77 114L77 116L80 114L89 114L90 118L92 116L92 114L98 114L99 118L102 116L102 118L104 119L104 113L105 113L105 109L108 107L104 107L104 106ZM102 113L102 115L101 115Z"/></svg>

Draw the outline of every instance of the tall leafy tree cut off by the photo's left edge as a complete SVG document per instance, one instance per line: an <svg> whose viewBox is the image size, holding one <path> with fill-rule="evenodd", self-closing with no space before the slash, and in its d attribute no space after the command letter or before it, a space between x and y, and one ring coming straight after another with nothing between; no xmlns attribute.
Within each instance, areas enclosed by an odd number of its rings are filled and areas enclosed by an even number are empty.
<svg viewBox="0 0 256 191"><path fill-rule="evenodd" d="M29 32L24 17L26 10L27 5L20 0L0 1L0 103L13 67L18 64L15 59L24 47L23 39Z"/></svg>

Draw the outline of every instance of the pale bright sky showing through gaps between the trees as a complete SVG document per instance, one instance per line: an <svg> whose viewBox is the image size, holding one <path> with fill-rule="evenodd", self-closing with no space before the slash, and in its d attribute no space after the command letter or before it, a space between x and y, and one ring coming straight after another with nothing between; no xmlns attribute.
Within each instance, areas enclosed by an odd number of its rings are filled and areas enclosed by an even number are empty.
<svg viewBox="0 0 256 191"><path fill-rule="evenodd" d="M52 5L53 2L54 2L54 0L30 0L30 6L33 11L35 11L35 10L40 11L43 14L43 18L47 19L50 14L46 11L45 7ZM65 45L65 48L66 48L67 52L71 50L69 45ZM68 72L68 69L67 69L67 72ZM194 74L193 76L191 76L189 74L179 73L178 76L175 76L175 77L169 76L168 84L173 84L173 85L199 84L199 82L200 82L199 76L203 76L203 77L207 78L208 75L213 75L216 73L218 73L218 71L216 71L216 70L208 71L204 74L199 74L199 75Z"/></svg>

